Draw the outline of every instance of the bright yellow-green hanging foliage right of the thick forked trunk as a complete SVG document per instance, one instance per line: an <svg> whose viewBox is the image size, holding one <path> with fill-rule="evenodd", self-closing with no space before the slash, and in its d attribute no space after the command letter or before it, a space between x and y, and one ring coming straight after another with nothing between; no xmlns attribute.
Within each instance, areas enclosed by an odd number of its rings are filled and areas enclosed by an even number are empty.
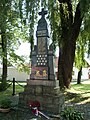
<svg viewBox="0 0 90 120"><path fill-rule="evenodd" d="M80 69L81 66L87 67L85 57L90 57L90 12L85 14L82 27L76 42L75 66ZM85 55L86 53L86 55Z"/></svg>

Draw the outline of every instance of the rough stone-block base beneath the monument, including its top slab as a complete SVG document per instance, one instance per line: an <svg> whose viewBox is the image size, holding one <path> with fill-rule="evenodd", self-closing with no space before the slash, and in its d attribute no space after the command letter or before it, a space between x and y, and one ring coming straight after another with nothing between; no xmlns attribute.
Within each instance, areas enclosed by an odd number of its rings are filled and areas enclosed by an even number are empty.
<svg viewBox="0 0 90 120"><path fill-rule="evenodd" d="M59 114L63 109L64 95L60 91L58 80L27 80L23 93L19 95L19 104L38 101L40 109Z"/></svg>

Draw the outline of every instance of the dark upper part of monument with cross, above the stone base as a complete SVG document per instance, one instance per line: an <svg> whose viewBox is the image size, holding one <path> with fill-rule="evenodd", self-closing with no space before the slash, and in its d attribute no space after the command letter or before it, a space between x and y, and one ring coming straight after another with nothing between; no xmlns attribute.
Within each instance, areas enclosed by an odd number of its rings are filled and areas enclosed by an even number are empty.
<svg viewBox="0 0 90 120"><path fill-rule="evenodd" d="M49 50L48 46L48 28L45 15L47 11L42 9L39 12L41 19L38 21L36 37L36 50L32 52L32 68L30 79L40 80L55 80L54 65L53 65L53 51ZM50 61L50 62L49 62Z"/></svg>

